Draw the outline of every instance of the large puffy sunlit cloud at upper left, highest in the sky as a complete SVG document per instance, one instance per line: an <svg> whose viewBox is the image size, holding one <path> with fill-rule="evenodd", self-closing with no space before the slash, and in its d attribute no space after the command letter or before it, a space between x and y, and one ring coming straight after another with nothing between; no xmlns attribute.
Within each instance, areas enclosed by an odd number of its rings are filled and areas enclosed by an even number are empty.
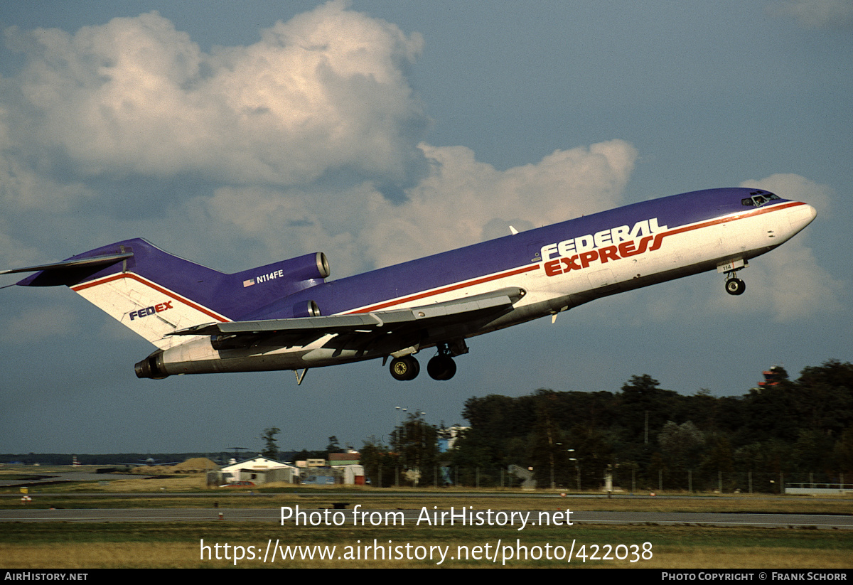
<svg viewBox="0 0 853 585"><path fill-rule="evenodd" d="M84 176L292 185L347 171L403 184L423 162L427 119L404 75L421 37L345 3L212 55L155 12L9 34L26 54L16 125Z"/></svg>

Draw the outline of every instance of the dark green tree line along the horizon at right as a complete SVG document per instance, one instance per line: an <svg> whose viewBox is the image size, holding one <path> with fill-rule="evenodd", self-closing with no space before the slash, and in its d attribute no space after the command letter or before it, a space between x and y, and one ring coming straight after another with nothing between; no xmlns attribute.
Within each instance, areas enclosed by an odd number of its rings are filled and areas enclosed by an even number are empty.
<svg viewBox="0 0 853 585"><path fill-rule="evenodd" d="M447 434L409 414L390 444L368 440L362 462L377 485L514 485L510 466L538 487L780 491L790 482L853 484L853 365L830 360L739 397L664 390L647 374L616 392L540 389L471 397L470 428Z"/></svg>

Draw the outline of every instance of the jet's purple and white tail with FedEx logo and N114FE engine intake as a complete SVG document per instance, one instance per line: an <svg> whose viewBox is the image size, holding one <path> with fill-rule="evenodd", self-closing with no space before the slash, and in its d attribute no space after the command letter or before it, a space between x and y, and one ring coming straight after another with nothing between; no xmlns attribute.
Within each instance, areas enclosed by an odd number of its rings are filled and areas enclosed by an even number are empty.
<svg viewBox="0 0 853 585"><path fill-rule="evenodd" d="M309 267L307 272L305 266ZM214 321L238 320L276 298L321 283L328 276L328 263L317 253L226 275L135 239L59 263L7 272L31 270L40 271L18 285L70 287L125 327L160 349L167 349L188 339L166 333ZM274 277L270 279L270 275ZM253 286L258 279L264 280L263 287Z"/></svg>

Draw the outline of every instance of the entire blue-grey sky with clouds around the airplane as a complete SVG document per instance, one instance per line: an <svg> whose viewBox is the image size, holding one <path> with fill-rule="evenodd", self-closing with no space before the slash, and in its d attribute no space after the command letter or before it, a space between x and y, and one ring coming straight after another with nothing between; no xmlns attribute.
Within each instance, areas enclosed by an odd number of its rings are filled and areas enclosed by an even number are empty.
<svg viewBox="0 0 853 585"><path fill-rule="evenodd" d="M700 188L818 210L742 297L713 273L603 299L471 340L450 382L139 380L143 339L5 288L0 452L253 450L269 426L359 447L395 407L450 425L468 397L634 374L731 396L851 359L851 0L0 6L3 268L144 237L226 272L322 251L339 278Z"/></svg>

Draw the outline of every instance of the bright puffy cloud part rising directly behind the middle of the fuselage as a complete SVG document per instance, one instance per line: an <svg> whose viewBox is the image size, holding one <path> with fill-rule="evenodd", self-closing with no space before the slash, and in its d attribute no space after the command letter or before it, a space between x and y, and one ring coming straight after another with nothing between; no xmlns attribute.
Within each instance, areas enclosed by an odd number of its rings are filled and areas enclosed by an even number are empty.
<svg viewBox="0 0 853 585"><path fill-rule="evenodd" d="M380 265L443 252L495 236L493 220L519 227L563 221L618 205L636 157L629 143L558 150L537 164L497 171L464 147L421 148L428 177L403 205L374 200L368 255ZM499 235L508 235L504 231Z"/></svg>

